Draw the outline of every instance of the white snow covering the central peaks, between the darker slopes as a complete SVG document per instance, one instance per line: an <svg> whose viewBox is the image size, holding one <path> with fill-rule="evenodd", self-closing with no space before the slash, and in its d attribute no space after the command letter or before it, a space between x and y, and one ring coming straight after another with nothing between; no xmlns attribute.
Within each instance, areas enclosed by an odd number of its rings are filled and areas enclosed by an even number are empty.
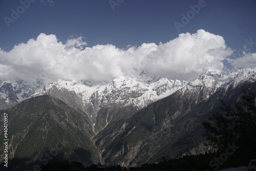
<svg viewBox="0 0 256 171"><path fill-rule="evenodd" d="M169 96L184 87L186 81L169 80L150 75L145 71L137 77L121 76L112 82L92 83L90 81L64 81L47 83L44 89L33 96L51 94L53 88L74 92L81 99L83 105L94 103L95 98L100 104L136 105L139 108Z"/></svg>

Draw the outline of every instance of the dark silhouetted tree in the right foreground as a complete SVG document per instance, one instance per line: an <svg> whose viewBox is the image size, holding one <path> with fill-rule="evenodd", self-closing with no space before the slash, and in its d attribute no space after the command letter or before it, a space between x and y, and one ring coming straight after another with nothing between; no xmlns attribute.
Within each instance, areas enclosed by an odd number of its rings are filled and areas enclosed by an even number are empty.
<svg viewBox="0 0 256 171"><path fill-rule="evenodd" d="M247 159L256 157L256 108L255 93L244 90L233 105L222 101L222 112L203 122L208 145L224 151L227 144L239 146L237 153Z"/></svg>

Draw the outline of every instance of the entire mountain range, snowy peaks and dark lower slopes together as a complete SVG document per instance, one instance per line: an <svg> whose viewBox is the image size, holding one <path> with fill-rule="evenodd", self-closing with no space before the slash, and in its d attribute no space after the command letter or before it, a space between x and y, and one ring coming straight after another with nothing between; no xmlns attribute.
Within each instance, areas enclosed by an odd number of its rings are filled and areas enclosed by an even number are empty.
<svg viewBox="0 0 256 171"><path fill-rule="evenodd" d="M84 165L139 166L202 154L209 149L201 123L219 110L220 99L232 103L243 89L256 90L255 81L255 68L207 70L190 82L145 71L111 82L58 80L44 88L0 80L11 163L28 170L46 164L44 154L58 142L63 148L52 157Z"/></svg>

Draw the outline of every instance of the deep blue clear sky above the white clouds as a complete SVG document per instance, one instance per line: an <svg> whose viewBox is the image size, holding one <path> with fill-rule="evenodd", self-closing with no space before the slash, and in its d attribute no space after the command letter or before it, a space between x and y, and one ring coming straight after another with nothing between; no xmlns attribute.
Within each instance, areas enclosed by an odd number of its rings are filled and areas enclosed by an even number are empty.
<svg viewBox="0 0 256 171"><path fill-rule="evenodd" d="M9 50L20 42L36 38L39 33L55 34L60 41L69 35L86 37L88 46L113 44L119 48L140 46L143 42L167 42L179 33L195 33L204 29L224 37L234 49L242 48L245 38L256 41L256 1L212 0L180 29L181 14L190 11L190 5L199 1L124 0L119 6L110 6L104 0L53 0L53 3L35 1L7 27L5 16L11 18L19 1L0 1L0 47ZM114 2L117 2L114 0ZM53 5L53 6L51 6ZM256 49L255 47L253 48Z"/></svg>

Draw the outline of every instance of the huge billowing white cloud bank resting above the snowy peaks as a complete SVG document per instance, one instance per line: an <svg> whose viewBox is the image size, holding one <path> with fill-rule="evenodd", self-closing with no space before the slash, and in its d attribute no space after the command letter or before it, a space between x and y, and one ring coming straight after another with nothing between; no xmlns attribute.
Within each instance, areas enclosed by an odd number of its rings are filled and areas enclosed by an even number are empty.
<svg viewBox="0 0 256 171"><path fill-rule="evenodd" d="M55 35L41 33L9 52L0 49L0 77L43 84L57 79L99 82L145 70L190 80L207 69L222 69L222 60L232 54L222 36L204 30L179 34L165 44L142 44L126 50L113 45L82 48L84 45L81 37L63 44Z"/></svg>

